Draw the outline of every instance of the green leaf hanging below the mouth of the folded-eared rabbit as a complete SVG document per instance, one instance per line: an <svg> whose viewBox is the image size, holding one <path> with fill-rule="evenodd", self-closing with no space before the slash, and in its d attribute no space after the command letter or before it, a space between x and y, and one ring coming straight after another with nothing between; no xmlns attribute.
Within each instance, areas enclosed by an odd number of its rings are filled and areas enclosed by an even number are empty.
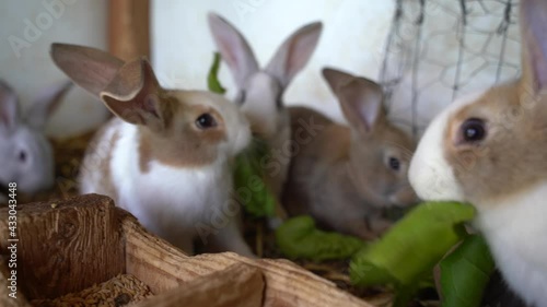
<svg viewBox="0 0 547 307"><path fill-rule="evenodd" d="M235 157L234 189L245 212L254 217L274 216L277 198L266 185L260 161L269 153L266 142L253 142Z"/></svg>

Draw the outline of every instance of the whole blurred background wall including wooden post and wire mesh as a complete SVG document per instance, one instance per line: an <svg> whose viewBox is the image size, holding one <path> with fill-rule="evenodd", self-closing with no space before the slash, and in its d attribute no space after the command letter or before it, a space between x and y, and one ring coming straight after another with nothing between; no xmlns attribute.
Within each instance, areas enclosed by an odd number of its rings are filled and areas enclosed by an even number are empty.
<svg viewBox="0 0 547 307"><path fill-rule="evenodd" d="M53 42L144 55L165 87L207 86L214 51L207 13L217 12L247 38L260 64L300 26L322 21L312 60L284 95L344 121L321 78L330 66L381 82L399 125L423 130L454 98L520 73L517 1L511 0L25 0L0 10L0 78L27 107L65 81L49 59ZM220 79L234 95L225 66ZM73 88L48 125L49 135L95 128L103 105Z"/></svg>

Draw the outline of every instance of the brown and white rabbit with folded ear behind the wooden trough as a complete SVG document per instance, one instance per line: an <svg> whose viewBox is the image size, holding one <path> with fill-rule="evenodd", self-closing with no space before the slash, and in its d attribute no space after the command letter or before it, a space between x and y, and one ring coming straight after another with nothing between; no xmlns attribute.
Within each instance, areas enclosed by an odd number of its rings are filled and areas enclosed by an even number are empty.
<svg viewBox="0 0 547 307"><path fill-rule="evenodd" d="M238 208L231 201L230 161L251 140L235 105L208 92L162 88L146 59L124 62L62 44L51 46L51 57L116 115L85 154L82 193L112 197L187 252L210 232L202 239L219 249L252 255L232 219Z"/></svg>

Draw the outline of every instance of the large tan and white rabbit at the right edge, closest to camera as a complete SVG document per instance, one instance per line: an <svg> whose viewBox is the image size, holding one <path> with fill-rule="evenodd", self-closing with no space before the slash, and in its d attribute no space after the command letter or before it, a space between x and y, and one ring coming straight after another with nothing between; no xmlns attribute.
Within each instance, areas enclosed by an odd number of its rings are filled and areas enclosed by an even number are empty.
<svg viewBox="0 0 547 307"><path fill-rule="evenodd" d="M474 204L508 284L547 306L547 1L521 1L520 80L454 102L426 130L409 179Z"/></svg>

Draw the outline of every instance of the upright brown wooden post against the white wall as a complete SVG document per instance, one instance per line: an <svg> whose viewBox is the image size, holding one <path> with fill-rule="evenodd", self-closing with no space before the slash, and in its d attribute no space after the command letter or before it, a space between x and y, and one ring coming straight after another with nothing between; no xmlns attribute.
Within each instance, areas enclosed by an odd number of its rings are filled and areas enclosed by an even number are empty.
<svg viewBox="0 0 547 307"><path fill-rule="evenodd" d="M150 59L150 1L110 0L108 48L123 60Z"/></svg>

